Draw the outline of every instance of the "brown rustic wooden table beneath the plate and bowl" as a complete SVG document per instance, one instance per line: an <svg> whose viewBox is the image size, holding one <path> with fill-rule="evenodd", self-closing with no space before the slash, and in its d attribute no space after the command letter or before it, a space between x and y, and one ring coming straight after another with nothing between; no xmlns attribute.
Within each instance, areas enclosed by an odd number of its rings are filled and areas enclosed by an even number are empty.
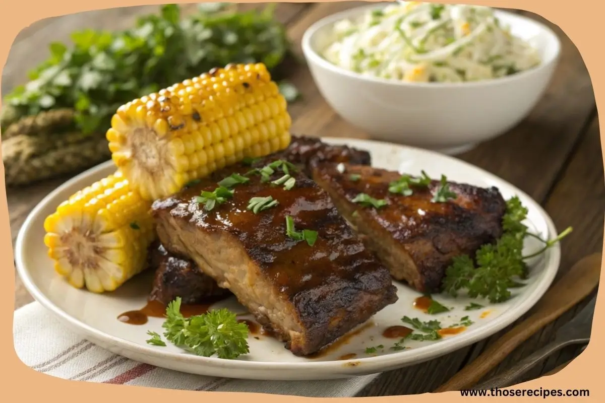
<svg viewBox="0 0 605 403"><path fill-rule="evenodd" d="M289 28L290 38L300 53L302 33L319 18L362 2L327 4L285 3L277 7L278 18ZM195 5L183 6L194 10ZM241 7L259 7L247 4ZM74 29L127 27L141 13L155 6L117 8L59 18L45 19L26 28L11 48L2 77L2 93L24 82L25 72L43 60L47 44L66 40ZM529 14L519 11L523 14ZM531 15L532 18L542 20ZM546 21L543 21L546 22ZM572 225L574 232L563 242L560 274L587 254L601 251L603 245L603 206L605 187L603 159L594 94L586 67L571 40L555 25L549 24L563 42L563 50L554 80L531 115L508 134L480 144L459 158L475 164L517 185L545 207L560 230ZM325 103L306 66L298 66L290 79L302 92L302 100L290 105L293 134L367 138L363 132L345 123ZM67 178L56 179L28 189L8 190L13 240L27 214L48 192ZM15 308L32 298L15 276ZM575 313L568 312L557 323L528 340L511 354L499 369L545 344L554 329ZM431 392L472 361L494 337L445 357L403 370L381 375L362 392L362 396L406 395ZM543 366L528 374L537 378L573 358L578 350L564 350Z"/></svg>

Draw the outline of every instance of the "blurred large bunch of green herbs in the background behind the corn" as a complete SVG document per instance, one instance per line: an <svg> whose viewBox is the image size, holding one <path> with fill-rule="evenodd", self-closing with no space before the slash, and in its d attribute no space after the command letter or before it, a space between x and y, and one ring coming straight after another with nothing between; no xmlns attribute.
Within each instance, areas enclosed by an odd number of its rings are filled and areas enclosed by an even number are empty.
<svg viewBox="0 0 605 403"><path fill-rule="evenodd" d="M178 5L168 4L125 31L74 32L73 46L50 44L51 56L30 72L30 82L5 97L2 113L14 121L75 108L83 134L104 133L124 103L216 66L262 62L275 76L290 55L290 43L273 17L274 7L206 10L181 18Z"/></svg>

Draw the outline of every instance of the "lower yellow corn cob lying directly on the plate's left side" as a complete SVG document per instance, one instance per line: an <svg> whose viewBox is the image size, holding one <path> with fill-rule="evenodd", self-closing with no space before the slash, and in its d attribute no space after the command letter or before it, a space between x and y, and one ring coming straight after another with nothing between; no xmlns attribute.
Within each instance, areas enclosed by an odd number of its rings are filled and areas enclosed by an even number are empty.
<svg viewBox="0 0 605 403"><path fill-rule="evenodd" d="M76 288L113 291L146 266L150 202L120 171L75 193L44 222L54 268Z"/></svg>

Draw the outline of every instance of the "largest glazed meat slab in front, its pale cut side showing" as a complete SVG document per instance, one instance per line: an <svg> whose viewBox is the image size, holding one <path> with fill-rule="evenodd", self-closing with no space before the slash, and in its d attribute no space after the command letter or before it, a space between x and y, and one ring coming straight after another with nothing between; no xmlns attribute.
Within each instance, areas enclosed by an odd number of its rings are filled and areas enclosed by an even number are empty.
<svg viewBox="0 0 605 403"><path fill-rule="evenodd" d="M254 167L273 161L267 157ZM221 172L226 177L248 170ZM208 211L197 196L212 192L217 182L206 179L155 201L152 214L167 250L191 257L295 355L309 355L397 296L388 269L365 248L327 193L299 170L289 171L296 179L290 190L250 175L249 182L233 188L231 199ZM270 181L282 175L276 170ZM251 198L268 196L279 204L257 214L247 209ZM315 244L288 236L286 216L296 231L317 231Z"/></svg>

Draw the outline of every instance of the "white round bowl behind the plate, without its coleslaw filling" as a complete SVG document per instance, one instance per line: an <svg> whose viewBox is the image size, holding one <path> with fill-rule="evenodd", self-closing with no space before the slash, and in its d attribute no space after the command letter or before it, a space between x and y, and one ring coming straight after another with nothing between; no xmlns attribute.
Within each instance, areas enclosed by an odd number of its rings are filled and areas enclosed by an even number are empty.
<svg viewBox="0 0 605 403"><path fill-rule="evenodd" d="M557 66L561 44L548 27L495 10L512 34L537 48L537 67L499 79L466 83L408 83L362 76L321 56L335 22L355 19L379 3L323 18L302 36L302 51L326 102L374 139L459 153L505 133L540 100Z"/></svg>

